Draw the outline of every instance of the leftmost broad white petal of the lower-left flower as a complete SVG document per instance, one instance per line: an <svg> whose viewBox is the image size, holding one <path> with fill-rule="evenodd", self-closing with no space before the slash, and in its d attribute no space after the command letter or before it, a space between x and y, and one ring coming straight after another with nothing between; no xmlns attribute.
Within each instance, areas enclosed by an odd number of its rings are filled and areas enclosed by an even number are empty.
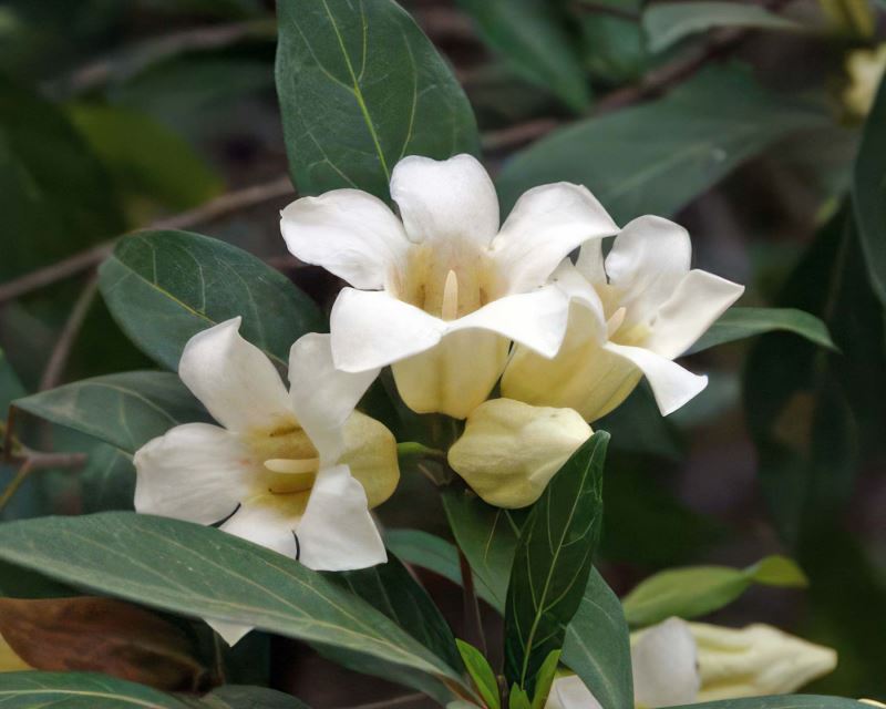
<svg viewBox="0 0 886 709"><path fill-rule="evenodd" d="M213 524L247 492L249 452L208 423L177 425L135 452L135 511Z"/></svg>

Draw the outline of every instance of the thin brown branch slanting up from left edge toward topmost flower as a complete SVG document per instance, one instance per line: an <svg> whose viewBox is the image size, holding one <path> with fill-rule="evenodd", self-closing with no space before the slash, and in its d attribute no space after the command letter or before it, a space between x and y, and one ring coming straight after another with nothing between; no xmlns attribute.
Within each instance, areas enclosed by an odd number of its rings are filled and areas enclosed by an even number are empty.
<svg viewBox="0 0 886 709"><path fill-rule="evenodd" d="M216 197L205 205L183 212L172 217L158 219L147 228L185 229L247 207L259 205L278 197L293 194L289 177L281 175L260 185L237 189ZM89 249L69 256L51 266L25 274L0 286L0 305L19 298L25 294L70 278L102 263L114 249L116 239L109 239Z"/></svg>

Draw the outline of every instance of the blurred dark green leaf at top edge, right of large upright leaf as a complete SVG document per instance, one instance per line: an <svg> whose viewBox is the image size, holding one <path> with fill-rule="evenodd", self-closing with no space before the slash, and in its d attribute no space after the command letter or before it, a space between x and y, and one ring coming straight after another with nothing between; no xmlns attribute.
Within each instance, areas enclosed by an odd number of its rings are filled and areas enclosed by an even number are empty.
<svg viewBox="0 0 886 709"><path fill-rule="evenodd" d="M548 0L457 0L483 39L521 76L559 96L574 111L590 103L590 88L566 30L566 17Z"/></svg>

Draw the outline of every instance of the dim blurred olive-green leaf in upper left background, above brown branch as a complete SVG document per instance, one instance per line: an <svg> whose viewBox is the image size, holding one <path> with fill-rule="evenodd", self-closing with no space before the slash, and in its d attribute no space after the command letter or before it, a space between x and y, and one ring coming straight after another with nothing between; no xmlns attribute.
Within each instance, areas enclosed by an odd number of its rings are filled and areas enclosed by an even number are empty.
<svg viewBox="0 0 886 709"><path fill-rule="evenodd" d="M222 191L222 181L187 141L145 114L84 103L69 115L128 196L182 210Z"/></svg>

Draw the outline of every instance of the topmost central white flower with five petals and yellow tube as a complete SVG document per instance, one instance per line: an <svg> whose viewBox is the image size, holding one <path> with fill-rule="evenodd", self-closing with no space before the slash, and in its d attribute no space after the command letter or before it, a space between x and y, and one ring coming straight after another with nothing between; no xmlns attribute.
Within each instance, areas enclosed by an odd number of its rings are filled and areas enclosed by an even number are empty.
<svg viewBox="0 0 886 709"><path fill-rule="evenodd" d="M391 177L400 218L357 189L305 197L282 213L289 250L353 286L331 316L336 367L393 364L414 411L463 419L488 395L511 340L553 357L568 304L545 286L581 243L618 232L587 188L524 194L498 227L498 201L470 155L409 156Z"/></svg>

